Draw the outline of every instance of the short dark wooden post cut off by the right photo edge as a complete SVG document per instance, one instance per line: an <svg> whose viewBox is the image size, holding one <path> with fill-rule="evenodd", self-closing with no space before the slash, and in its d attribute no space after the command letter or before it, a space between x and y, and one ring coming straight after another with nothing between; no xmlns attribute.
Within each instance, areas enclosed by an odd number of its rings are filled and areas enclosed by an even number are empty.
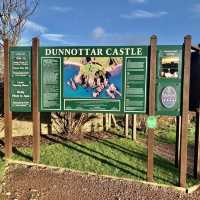
<svg viewBox="0 0 200 200"><path fill-rule="evenodd" d="M196 111L194 177L200 179L200 108Z"/></svg>

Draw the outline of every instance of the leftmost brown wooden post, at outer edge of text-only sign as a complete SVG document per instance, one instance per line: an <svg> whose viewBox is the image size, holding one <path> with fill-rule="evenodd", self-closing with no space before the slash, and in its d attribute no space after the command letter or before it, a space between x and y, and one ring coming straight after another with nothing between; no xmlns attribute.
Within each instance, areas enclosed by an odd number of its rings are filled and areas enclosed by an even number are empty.
<svg viewBox="0 0 200 200"><path fill-rule="evenodd" d="M12 112L10 111L9 41L4 41L4 122L5 158L12 155Z"/></svg>

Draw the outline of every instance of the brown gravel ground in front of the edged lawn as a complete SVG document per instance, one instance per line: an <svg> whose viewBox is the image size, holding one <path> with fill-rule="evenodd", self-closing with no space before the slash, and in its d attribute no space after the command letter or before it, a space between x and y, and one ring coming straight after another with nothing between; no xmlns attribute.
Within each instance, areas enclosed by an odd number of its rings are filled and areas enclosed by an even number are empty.
<svg viewBox="0 0 200 200"><path fill-rule="evenodd" d="M12 200L199 200L192 194L125 180L11 164L0 199Z"/></svg>

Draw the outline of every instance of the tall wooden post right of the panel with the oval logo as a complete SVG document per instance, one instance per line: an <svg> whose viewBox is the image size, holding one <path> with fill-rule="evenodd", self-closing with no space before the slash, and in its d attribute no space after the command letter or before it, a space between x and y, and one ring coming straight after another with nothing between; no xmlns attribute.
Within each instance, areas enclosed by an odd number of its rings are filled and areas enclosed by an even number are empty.
<svg viewBox="0 0 200 200"><path fill-rule="evenodd" d="M191 62L191 36L184 38L184 66L183 66L183 94L181 116L181 140L180 140L180 176L179 186L186 187L187 175L187 135L189 112L189 86L190 86L190 62Z"/></svg>

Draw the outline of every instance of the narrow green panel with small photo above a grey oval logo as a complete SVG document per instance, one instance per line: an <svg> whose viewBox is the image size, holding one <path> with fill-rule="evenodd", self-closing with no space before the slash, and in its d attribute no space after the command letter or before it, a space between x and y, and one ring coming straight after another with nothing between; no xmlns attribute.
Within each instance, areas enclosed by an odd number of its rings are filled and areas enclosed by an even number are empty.
<svg viewBox="0 0 200 200"><path fill-rule="evenodd" d="M181 113L182 46L162 45L157 49L156 113Z"/></svg>

